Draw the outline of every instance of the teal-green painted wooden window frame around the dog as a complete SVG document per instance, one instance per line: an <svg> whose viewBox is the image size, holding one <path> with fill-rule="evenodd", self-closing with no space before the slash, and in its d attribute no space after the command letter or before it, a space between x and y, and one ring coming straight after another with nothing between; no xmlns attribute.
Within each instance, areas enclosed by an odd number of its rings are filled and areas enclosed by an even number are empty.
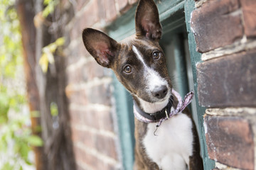
<svg viewBox="0 0 256 170"><path fill-rule="evenodd" d="M163 32L168 33L183 24L186 24L188 33L188 45L191 55L191 67L193 71L193 82L195 94L197 94L197 77L196 77L196 64L201 62L201 54L196 52L196 41L193 33L191 32L190 19L191 12L195 8L193 0L161 0L156 1L159 8L160 21L163 26ZM135 4L127 13L120 16L117 21L114 21L107 27L108 34L115 40L122 40L129 35L134 34L134 14L136 11ZM177 11L183 11L183 16L176 16ZM186 23L184 23L184 17ZM171 21L170 21L171 18ZM124 169L132 169L134 162L134 116L132 112L132 97L124 89L122 84L117 81L113 75L114 96L116 98L116 112L117 123L119 128L119 141L122 153L122 164ZM198 96L196 96L197 108L197 128L201 142L201 154L203 157L203 165L205 170L210 170L215 167L213 160L208 159L208 152L206 147L205 131L203 128L203 114L206 108L198 105Z"/></svg>

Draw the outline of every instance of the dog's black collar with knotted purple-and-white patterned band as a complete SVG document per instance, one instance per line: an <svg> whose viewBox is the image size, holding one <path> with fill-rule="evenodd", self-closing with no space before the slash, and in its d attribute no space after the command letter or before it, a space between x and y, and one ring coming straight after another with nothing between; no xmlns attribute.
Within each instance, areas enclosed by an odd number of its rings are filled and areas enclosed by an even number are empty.
<svg viewBox="0 0 256 170"><path fill-rule="evenodd" d="M171 91L172 94L174 94L174 96L176 96L176 98L178 99L178 105L176 106L176 109L174 109L173 111L171 111L171 107L173 106L173 96L171 96L171 100L169 100L169 103L167 104L167 106L165 108L163 108L161 111L158 111L156 113L145 113L144 111L142 111L142 109L139 108L139 106L137 106L137 103L134 102L134 117L137 118L137 120L144 122L144 123L156 123L156 130L157 128L159 128L159 126L161 125L161 123L164 122L164 120L167 120L169 118L171 118L173 115L176 115L178 113L181 113L186 106L188 106L189 103L191 103L192 98L193 98L193 91L190 91L188 94L186 94L186 96L184 97L183 101L182 98L180 96L180 94L178 94L177 91L175 91L174 89L172 89ZM155 131L156 132L156 131ZM154 132L154 135L155 135Z"/></svg>

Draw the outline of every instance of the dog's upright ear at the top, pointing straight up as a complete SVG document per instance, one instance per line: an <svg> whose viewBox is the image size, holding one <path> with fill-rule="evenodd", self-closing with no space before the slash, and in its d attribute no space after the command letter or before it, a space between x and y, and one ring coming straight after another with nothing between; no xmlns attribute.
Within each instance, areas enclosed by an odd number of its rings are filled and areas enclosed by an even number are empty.
<svg viewBox="0 0 256 170"><path fill-rule="evenodd" d="M153 0L140 0L135 14L136 35L152 40L161 39L159 12Z"/></svg>

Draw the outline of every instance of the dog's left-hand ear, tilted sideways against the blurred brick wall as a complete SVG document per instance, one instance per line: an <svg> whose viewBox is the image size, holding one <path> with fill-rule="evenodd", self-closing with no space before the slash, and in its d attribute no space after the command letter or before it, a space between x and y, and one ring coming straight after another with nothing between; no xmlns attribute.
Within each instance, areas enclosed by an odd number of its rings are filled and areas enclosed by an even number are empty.
<svg viewBox="0 0 256 170"><path fill-rule="evenodd" d="M110 67L114 56L118 55L119 43L100 30L85 28L82 41L90 55L103 67Z"/></svg>

